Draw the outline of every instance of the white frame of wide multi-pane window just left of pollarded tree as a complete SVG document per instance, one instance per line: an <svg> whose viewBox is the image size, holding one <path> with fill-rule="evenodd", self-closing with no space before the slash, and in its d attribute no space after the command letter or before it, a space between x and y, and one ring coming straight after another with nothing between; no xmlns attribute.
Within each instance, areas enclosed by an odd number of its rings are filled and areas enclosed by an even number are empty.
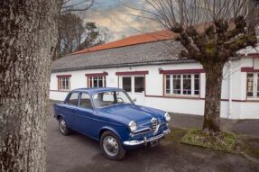
<svg viewBox="0 0 259 172"><path fill-rule="evenodd" d="M190 95L183 94L183 76L190 75ZM195 75L199 75L199 95L195 95ZM166 76L170 76L170 94L166 92ZM173 93L173 76L180 76L180 94ZM200 96L200 74L165 74L164 75L164 95L165 96L193 96L199 97Z"/></svg>

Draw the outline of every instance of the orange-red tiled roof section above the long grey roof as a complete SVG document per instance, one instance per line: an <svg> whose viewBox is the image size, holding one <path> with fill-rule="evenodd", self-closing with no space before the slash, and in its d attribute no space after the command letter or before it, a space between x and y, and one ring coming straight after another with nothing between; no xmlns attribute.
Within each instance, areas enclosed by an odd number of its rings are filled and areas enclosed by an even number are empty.
<svg viewBox="0 0 259 172"><path fill-rule="evenodd" d="M109 42L109 43L98 45L96 47L92 47L85 50L79 50L79 51L73 52L72 54L73 55L83 54L83 53L97 51L97 50L114 49L114 48L129 46L129 45L148 43L152 41L171 40L174 38L176 38L176 34L168 30L163 30L160 32L143 33L140 35L127 37L123 40Z"/></svg>

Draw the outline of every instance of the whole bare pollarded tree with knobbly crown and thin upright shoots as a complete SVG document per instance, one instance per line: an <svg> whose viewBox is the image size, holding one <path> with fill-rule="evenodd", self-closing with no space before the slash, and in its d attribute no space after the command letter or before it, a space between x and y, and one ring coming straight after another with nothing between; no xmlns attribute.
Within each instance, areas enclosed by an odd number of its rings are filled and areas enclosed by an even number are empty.
<svg viewBox="0 0 259 172"><path fill-rule="evenodd" d="M258 4L251 0L145 0L145 18L177 33L180 58L195 59L206 71L203 131L219 133L223 68L236 51L255 46Z"/></svg>

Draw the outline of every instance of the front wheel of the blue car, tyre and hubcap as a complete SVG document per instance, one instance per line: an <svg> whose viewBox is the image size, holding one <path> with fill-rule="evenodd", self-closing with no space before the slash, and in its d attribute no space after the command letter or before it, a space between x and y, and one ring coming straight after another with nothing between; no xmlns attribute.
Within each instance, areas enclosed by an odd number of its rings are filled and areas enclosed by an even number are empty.
<svg viewBox="0 0 259 172"><path fill-rule="evenodd" d="M119 160L125 157L126 151L114 132L105 131L101 136L100 146L106 158Z"/></svg>

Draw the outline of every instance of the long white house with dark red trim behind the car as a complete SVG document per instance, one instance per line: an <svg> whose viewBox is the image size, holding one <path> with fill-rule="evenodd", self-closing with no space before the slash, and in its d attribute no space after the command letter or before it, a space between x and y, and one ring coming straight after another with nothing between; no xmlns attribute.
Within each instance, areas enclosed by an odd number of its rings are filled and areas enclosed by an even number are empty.
<svg viewBox="0 0 259 172"><path fill-rule="evenodd" d="M50 98L64 100L79 87L121 87L136 104L202 115L206 73L198 62L178 58L174 37L165 31L142 34L58 59L51 67ZM224 68L223 118L259 119L259 53L249 52Z"/></svg>

